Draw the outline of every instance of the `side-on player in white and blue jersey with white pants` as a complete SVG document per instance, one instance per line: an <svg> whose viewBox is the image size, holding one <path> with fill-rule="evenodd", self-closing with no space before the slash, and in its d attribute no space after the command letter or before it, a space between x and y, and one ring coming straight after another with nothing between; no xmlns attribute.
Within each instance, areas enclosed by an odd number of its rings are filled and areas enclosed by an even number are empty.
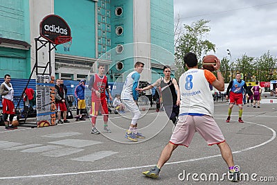
<svg viewBox="0 0 277 185"><path fill-rule="evenodd" d="M137 105L138 96L136 88L139 87L139 78L141 78L141 72L143 71L143 62L136 62L134 64L134 71L127 76L123 90L121 92L121 100L123 105L129 112L132 112L132 121L129 125L129 129L125 134L125 138L131 141L138 141L137 138L144 139L145 136L138 132L138 123L136 123L141 116L139 106Z"/></svg>

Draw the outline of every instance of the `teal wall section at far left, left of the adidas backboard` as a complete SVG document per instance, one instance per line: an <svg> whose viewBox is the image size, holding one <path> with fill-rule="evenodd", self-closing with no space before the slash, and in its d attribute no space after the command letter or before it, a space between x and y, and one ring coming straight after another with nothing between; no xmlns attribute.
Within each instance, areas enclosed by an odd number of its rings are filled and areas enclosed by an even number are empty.
<svg viewBox="0 0 277 185"><path fill-rule="evenodd" d="M0 0L0 37L30 43L29 1ZM29 78L30 50L0 47L0 77Z"/></svg>

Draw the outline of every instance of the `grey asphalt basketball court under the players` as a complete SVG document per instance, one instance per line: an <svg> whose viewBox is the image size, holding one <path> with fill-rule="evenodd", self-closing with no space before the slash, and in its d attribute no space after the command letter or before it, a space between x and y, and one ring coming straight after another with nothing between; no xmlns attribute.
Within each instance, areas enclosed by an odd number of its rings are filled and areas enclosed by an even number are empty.
<svg viewBox="0 0 277 185"><path fill-rule="evenodd" d="M231 147L236 165L243 173L276 177L277 105L262 104L260 109L244 106L238 122L238 107L226 123L228 104L215 103L215 120ZM222 182L181 181L188 173L221 175L227 167L217 146L207 146L199 134L188 148L173 152L159 179L143 177L142 172L157 164L170 139L172 123L165 112L142 112L139 127L146 139L132 143L124 138L130 114L111 114L110 134L91 134L91 123L80 121L53 127L19 127L0 132L0 184L231 184ZM102 116L97 126L102 131ZM274 184L244 181L241 184Z"/></svg>

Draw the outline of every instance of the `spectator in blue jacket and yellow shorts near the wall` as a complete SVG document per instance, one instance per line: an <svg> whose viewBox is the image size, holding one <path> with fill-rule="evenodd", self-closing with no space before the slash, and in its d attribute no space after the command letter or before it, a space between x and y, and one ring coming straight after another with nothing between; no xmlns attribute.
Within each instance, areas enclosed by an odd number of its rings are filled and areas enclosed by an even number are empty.
<svg viewBox="0 0 277 185"><path fill-rule="evenodd" d="M86 109L86 101L84 100L84 89L86 88L85 84L86 84L86 80L80 80L79 85L75 88L74 94L78 100L78 107L77 107L78 118L76 118L75 121L85 120L84 118L82 118L82 112L84 112Z"/></svg>

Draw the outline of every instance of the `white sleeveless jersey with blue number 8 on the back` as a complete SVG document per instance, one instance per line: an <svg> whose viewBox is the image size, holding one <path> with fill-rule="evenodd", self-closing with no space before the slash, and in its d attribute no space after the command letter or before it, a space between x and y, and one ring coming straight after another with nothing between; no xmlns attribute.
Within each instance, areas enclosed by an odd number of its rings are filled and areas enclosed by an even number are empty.
<svg viewBox="0 0 277 185"><path fill-rule="evenodd" d="M181 91L181 114L205 114L213 116L213 96L204 70L189 69L179 79Z"/></svg>

